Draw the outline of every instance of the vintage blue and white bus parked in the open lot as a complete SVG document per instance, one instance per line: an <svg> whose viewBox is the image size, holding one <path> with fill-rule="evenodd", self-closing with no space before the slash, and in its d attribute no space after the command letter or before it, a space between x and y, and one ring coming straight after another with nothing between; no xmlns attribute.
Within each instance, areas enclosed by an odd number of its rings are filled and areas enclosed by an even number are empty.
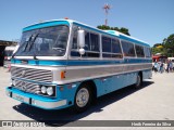
<svg viewBox="0 0 174 130"><path fill-rule="evenodd" d="M151 77L148 43L57 20L23 29L7 95L44 109L86 110L97 98Z"/></svg>

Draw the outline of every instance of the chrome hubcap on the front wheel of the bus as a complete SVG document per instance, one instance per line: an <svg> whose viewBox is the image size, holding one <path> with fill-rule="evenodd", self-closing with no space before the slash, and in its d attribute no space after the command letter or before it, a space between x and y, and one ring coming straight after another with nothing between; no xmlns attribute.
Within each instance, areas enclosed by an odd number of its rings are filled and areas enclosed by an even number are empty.
<svg viewBox="0 0 174 130"><path fill-rule="evenodd" d="M82 88L76 95L76 104L84 107L89 101L89 92L86 88Z"/></svg>

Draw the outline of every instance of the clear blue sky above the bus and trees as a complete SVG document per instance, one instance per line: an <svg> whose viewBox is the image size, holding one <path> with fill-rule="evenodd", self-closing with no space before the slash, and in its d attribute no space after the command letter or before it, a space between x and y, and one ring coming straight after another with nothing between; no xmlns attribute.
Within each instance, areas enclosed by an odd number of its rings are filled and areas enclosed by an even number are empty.
<svg viewBox="0 0 174 130"><path fill-rule="evenodd" d="M151 47L174 34L174 0L0 0L0 40L20 39L28 25L64 17L103 25L105 3L109 26L128 28Z"/></svg>

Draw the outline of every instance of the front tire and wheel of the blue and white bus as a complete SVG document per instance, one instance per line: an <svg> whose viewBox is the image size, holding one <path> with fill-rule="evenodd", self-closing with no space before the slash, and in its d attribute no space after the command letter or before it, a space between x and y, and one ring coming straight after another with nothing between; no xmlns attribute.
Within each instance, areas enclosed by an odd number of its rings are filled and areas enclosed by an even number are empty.
<svg viewBox="0 0 174 130"><path fill-rule="evenodd" d="M91 90L87 83L82 84L75 94L74 110L77 113L85 112L91 104Z"/></svg>

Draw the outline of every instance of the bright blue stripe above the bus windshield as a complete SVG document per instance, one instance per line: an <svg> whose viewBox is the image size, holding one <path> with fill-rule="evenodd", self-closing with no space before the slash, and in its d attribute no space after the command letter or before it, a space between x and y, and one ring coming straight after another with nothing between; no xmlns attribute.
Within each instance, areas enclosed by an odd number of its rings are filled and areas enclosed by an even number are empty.
<svg viewBox="0 0 174 130"><path fill-rule="evenodd" d="M66 22L66 21L52 21L52 22L39 23L39 24L35 24L35 25L25 27L23 29L23 31L28 31L28 30L44 28L44 27L50 27L50 26L57 26L57 25L67 25L67 26L70 26L70 23Z"/></svg>

